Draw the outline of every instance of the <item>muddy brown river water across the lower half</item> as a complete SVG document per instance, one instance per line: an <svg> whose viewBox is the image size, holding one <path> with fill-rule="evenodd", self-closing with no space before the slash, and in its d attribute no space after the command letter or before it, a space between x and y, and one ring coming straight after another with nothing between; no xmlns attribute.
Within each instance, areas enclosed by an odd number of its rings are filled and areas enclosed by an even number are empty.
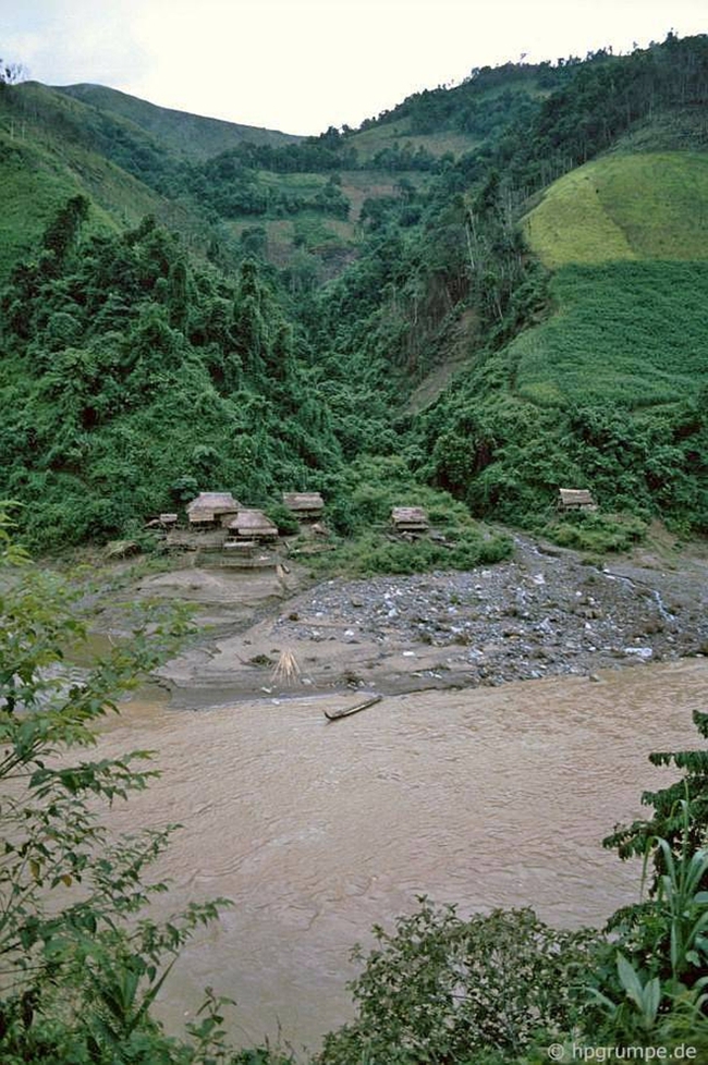
<svg viewBox="0 0 708 1065"><path fill-rule="evenodd" d="M464 915L533 905L558 926L600 925L637 898L640 869L603 850L656 749L699 745L708 662L498 688L395 696L337 722L310 695L200 710L135 701L98 751L158 754L162 776L111 812L120 830L179 821L159 873L167 911L233 899L185 950L160 1011L178 1030L209 984L237 1002L232 1037L296 1050L352 1016L355 942L416 895ZM341 702L342 700L340 700ZM346 701L346 700L344 700Z"/></svg>

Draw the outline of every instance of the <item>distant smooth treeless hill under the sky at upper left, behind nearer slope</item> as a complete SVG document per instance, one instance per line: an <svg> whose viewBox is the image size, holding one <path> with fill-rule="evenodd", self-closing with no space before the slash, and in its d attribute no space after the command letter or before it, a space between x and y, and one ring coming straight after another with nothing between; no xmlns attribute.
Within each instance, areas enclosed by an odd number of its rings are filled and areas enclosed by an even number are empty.
<svg viewBox="0 0 708 1065"><path fill-rule="evenodd" d="M135 96L103 85L64 85L56 89L109 114L120 115L164 144L176 156L208 159L233 148L241 140L282 145L301 139L296 135L257 126L208 119L186 111L157 107Z"/></svg>

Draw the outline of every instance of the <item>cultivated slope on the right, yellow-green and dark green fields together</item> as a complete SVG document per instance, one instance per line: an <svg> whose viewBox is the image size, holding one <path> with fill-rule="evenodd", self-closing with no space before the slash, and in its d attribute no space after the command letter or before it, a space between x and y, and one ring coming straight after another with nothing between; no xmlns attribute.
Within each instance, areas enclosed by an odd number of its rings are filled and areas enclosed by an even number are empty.
<svg viewBox="0 0 708 1065"><path fill-rule="evenodd" d="M595 160L546 189L524 231L556 311L510 346L520 396L640 409L708 380L708 155Z"/></svg>

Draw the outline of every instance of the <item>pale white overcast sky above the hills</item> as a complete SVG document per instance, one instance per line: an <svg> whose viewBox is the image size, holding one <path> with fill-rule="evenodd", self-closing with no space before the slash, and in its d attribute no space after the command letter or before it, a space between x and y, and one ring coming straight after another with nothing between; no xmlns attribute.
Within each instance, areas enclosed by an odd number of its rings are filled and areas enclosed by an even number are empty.
<svg viewBox="0 0 708 1065"><path fill-rule="evenodd" d="M0 57L286 133L357 126L475 66L708 33L707 0L0 0Z"/></svg>

